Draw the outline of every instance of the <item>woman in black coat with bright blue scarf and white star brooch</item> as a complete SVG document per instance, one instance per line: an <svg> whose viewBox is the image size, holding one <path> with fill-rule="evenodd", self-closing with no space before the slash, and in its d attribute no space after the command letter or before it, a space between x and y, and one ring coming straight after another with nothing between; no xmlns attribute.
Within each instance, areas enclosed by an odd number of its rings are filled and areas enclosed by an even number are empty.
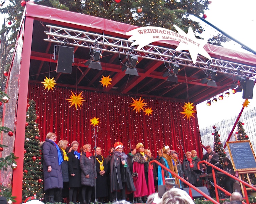
<svg viewBox="0 0 256 204"><path fill-rule="evenodd" d="M68 176L69 176L69 199L73 203L77 202L77 190L81 186L81 170L80 170L80 152L78 152L79 143L73 141L71 143L71 152L68 156Z"/></svg>

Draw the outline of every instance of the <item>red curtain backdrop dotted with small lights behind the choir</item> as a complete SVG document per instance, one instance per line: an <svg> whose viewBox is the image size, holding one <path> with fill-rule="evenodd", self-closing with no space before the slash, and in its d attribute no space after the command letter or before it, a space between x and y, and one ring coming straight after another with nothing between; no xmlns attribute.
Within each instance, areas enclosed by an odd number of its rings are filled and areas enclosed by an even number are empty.
<svg viewBox="0 0 256 204"><path fill-rule="evenodd" d="M69 107L66 100L71 95L80 94L85 102L78 107ZM145 148L150 148L153 156L156 157L157 150L164 145L169 145L171 149L178 151L180 159L183 159L183 150L197 150L197 154L202 158L201 139L196 118L190 121L183 119L182 106L184 102L178 100L144 98L154 111L150 116L145 112L136 113L132 103L132 97L136 96L116 95L101 92L70 89L56 86L53 90L44 90L42 84L29 83L28 99L36 101L36 111L39 119L40 141L45 140L47 132L55 132L58 141L66 139L71 144L76 140L80 147L85 144L95 146L94 130L90 119L99 118L96 145L103 150L103 155L108 155L108 149L115 142L124 144L126 153L131 146L142 142Z"/></svg>

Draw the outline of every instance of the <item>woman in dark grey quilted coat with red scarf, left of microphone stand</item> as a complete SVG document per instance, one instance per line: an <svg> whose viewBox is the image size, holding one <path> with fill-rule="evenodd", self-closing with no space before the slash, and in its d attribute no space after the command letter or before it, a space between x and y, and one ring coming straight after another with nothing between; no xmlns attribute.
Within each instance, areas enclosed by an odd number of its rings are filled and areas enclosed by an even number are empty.
<svg viewBox="0 0 256 204"><path fill-rule="evenodd" d="M80 157L82 199L84 204L90 203L95 179L97 178L97 172L95 171L94 158L91 150L91 145L84 145L83 152Z"/></svg>

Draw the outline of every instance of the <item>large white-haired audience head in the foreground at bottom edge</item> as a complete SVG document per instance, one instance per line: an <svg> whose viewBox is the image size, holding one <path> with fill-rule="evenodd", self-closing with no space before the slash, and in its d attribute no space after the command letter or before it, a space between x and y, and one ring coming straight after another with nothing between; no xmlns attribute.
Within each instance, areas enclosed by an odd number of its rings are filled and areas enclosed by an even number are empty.
<svg viewBox="0 0 256 204"><path fill-rule="evenodd" d="M194 201L184 190L171 188L163 194L161 204L194 204Z"/></svg>

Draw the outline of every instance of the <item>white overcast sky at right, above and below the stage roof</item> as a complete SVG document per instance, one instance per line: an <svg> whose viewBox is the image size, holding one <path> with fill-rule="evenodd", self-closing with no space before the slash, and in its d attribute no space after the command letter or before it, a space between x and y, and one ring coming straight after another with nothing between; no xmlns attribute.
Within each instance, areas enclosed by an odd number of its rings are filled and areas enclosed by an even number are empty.
<svg viewBox="0 0 256 204"><path fill-rule="evenodd" d="M206 19L222 31L226 32L234 39L244 45L247 45L256 51L256 15L255 0L212 0L209 10L205 11ZM199 21L200 22L200 21ZM202 23L201 25L205 25ZM216 34L215 29L205 26L205 38L209 39ZM241 49L239 45L230 42L224 47L234 50L247 52ZM249 52L248 52L249 53ZM249 100L249 108L256 107L256 86L254 87L253 99ZM229 98L224 97L222 101L206 105L206 101L197 105L197 116L199 128L211 125L217 121L238 115L242 109L242 93L230 94Z"/></svg>

